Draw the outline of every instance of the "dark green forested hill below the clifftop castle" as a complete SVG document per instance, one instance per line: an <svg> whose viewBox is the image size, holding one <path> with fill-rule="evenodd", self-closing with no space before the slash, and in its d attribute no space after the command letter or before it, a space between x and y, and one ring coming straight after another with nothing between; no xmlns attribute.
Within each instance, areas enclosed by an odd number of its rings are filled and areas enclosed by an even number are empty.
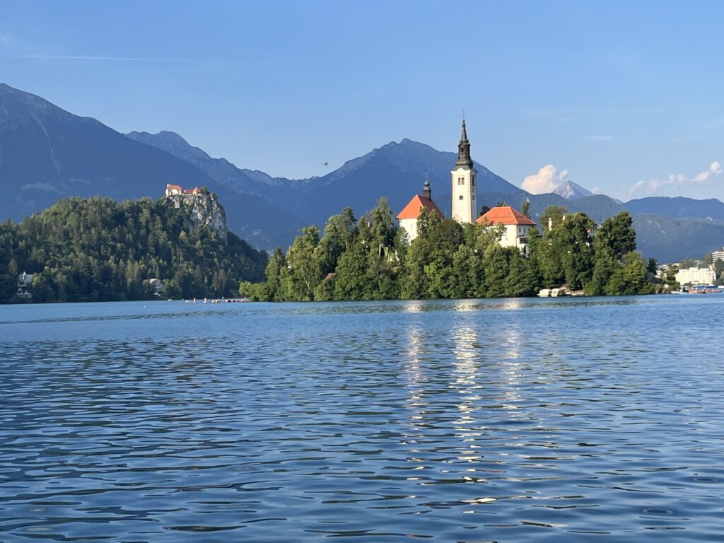
<svg viewBox="0 0 724 543"><path fill-rule="evenodd" d="M266 253L229 233L193 227L167 201L118 203L70 198L19 224L0 224L0 299L17 275L35 274L35 301L151 298L146 279L164 281L169 298L236 295L242 280L264 277Z"/></svg>

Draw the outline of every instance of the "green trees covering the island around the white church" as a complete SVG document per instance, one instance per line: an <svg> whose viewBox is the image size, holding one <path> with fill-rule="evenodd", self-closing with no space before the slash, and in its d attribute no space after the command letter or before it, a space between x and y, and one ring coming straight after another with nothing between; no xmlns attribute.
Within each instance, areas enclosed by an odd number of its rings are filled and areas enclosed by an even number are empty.
<svg viewBox="0 0 724 543"><path fill-rule="evenodd" d="M540 223L546 228L531 231L528 257L497 243L500 225L463 226L427 212L408 243L382 198L360 220L349 208L330 217L324 235L303 229L286 254L277 248L269 257L266 282L243 282L239 292L284 301L516 297L561 285L587 295L662 288L649 280L655 261L635 252L628 212L597 227L585 214L550 207Z"/></svg>

